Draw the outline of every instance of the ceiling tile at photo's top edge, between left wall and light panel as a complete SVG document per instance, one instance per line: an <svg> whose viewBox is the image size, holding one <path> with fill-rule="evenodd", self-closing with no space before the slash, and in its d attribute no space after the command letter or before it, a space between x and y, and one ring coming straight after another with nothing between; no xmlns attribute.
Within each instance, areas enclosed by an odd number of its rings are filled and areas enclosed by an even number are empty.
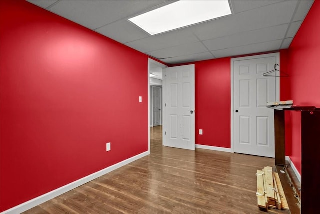
<svg viewBox="0 0 320 214"><path fill-rule="evenodd" d="M49 10L80 25L95 29L121 18L135 15L163 2L163 0L61 0Z"/></svg>

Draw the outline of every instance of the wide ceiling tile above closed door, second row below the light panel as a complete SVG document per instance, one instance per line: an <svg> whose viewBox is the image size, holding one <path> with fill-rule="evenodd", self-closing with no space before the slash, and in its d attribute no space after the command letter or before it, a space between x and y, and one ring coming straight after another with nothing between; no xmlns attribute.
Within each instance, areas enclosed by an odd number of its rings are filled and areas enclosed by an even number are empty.
<svg viewBox="0 0 320 214"><path fill-rule="evenodd" d="M235 46L243 46L266 41L282 39L285 36L289 24L272 26L253 31L241 32L238 34L220 37L203 41L203 44L210 50L219 50Z"/></svg>

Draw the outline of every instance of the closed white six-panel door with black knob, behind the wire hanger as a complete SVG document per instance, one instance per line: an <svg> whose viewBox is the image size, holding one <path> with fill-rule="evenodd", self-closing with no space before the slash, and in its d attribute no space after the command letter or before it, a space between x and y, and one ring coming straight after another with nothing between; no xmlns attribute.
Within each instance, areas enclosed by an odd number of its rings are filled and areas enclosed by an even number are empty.
<svg viewBox="0 0 320 214"><path fill-rule="evenodd" d="M277 101L278 77L273 70L278 53L232 59L234 152L274 157L274 115L267 102Z"/></svg>

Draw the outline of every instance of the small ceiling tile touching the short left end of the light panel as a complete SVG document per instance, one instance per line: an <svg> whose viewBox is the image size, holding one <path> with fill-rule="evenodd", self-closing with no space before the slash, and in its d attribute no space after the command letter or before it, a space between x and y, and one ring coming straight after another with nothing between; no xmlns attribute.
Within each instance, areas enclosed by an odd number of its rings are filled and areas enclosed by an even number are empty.
<svg viewBox="0 0 320 214"><path fill-rule="evenodd" d="M95 31L121 43L131 42L149 36L125 19L110 23Z"/></svg>

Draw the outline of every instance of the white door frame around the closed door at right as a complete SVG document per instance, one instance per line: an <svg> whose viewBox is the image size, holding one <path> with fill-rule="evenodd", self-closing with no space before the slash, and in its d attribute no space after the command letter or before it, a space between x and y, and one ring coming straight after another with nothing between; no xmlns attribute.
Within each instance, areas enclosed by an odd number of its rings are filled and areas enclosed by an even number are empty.
<svg viewBox="0 0 320 214"><path fill-rule="evenodd" d="M231 58L231 152L234 152L234 68L233 63L234 61L239 60L250 60L250 59L256 59L256 58L264 58L264 57L275 57L275 63L279 65L280 70L280 53L270 53L270 54L260 54L260 55L253 55L253 56L247 56L247 57L237 57L237 58ZM274 101L280 100L280 78L276 77L275 79L275 99Z"/></svg>

